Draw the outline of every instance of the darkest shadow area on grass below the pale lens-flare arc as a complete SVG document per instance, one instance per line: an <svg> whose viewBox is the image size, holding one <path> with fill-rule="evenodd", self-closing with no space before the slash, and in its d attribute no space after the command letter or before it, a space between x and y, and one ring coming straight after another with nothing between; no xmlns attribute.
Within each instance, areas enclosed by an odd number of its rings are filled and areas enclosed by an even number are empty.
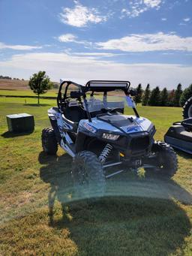
<svg viewBox="0 0 192 256"><path fill-rule="evenodd" d="M104 197L69 205L72 221L53 221L68 229L80 255L184 254L190 221L176 203L143 197Z"/></svg>

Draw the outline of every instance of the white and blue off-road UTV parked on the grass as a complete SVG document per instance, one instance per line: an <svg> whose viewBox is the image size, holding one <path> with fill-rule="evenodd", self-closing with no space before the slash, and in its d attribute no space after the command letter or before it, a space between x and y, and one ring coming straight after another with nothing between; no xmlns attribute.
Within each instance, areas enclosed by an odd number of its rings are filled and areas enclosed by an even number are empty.
<svg viewBox="0 0 192 256"><path fill-rule="evenodd" d="M168 144L154 141L154 125L139 116L133 95L128 81L91 80L86 86L61 81L58 106L48 110L52 128L42 131L44 152L55 155L58 145L68 152L79 184L104 182L139 167L146 173L173 176L175 152ZM117 97L120 101L115 101ZM133 115L124 115L124 104L133 109Z"/></svg>

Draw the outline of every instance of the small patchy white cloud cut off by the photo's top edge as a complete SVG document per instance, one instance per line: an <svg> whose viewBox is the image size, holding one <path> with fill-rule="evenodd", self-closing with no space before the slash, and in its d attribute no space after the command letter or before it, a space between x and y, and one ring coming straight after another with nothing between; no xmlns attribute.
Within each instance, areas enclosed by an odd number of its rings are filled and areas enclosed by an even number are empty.
<svg viewBox="0 0 192 256"><path fill-rule="evenodd" d="M161 3L162 0L132 0L128 2L127 8L123 8L121 10L121 18L125 16L134 18L138 17L140 14L150 9L158 10Z"/></svg>

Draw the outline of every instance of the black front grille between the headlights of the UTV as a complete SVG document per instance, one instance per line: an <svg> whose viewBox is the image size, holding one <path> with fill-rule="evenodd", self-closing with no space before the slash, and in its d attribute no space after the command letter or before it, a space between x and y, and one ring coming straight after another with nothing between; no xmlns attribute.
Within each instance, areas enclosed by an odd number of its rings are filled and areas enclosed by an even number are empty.
<svg viewBox="0 0 192 256"><path fill-rule="evenodd" d="M149 137L133 137L130 141L130 150L132 153L141 152L148 149Z"/></svg>

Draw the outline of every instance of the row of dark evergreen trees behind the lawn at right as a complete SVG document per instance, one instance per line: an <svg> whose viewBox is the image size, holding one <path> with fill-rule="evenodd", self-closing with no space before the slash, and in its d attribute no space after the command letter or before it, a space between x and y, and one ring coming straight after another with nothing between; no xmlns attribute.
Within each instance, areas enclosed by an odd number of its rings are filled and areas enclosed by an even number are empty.
<svg viewBox="0 0 192 256"><path fill-rule="evenodd" d="M141 103L142 106L181 107L190 97L192 97L192 84L184 90L181 83L178 83L176 89L168 91L165 87L160 91L159 86L151 90L149 84L143 90L139 83L134 101L136 104Z"/></svg>

